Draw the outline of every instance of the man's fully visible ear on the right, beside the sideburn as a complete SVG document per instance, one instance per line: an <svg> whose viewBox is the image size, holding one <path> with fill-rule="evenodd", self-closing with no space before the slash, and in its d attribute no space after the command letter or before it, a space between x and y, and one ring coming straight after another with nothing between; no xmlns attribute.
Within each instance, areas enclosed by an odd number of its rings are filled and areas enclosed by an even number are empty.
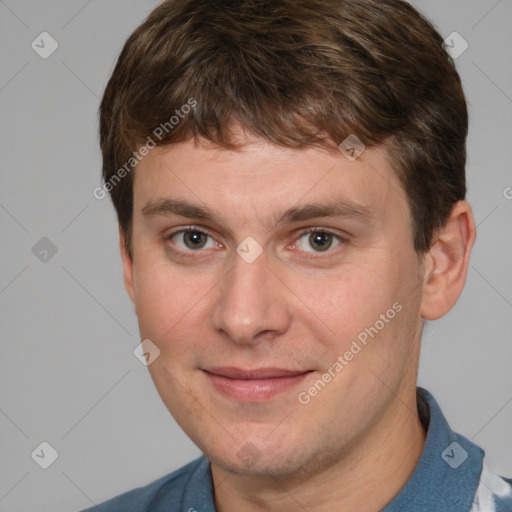
<svg viewBox="0 0 512 512"><path fill-rule="evenodd" d="M471 206L467 201L458 201L425 255L420 309L424 319L442 317L457 302L466 282L475 238L476 226Z"/></svg>

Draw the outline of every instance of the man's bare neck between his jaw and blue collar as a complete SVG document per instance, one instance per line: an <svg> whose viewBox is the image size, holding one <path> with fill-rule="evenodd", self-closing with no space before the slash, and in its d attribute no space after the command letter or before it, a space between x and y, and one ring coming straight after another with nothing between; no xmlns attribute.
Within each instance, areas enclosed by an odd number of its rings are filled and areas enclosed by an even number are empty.
<svg viewBox="0 0 512 512"><path fill-rule="evenodd" d="M237 475L212 463L217 510L377 512L399 493L420 459L426 433L416 411L414 388L407 400L394 400L356 446L328 467L300 476Z"/></svg>

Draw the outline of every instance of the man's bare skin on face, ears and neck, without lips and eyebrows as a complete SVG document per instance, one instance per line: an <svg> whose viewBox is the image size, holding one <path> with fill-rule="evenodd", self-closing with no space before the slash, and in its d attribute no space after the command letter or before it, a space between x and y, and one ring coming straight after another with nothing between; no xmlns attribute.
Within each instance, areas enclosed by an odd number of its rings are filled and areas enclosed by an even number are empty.
<svg viewBox="0 0 512 512"><path fill-rule="evenodd" d="M421 455L422 322L446 314L462 291L475 239L471 207L457 203L420 256L385 148L349 161L238 137L237 151L197 140L156 148L135 171L133 259L122 231L120 247L141 339L160 350L151 376L210 459L219 511L380 510ZM162 212L162 198L206 206L218 219ZM334 200L372 216L277 222L288 209ZM190 226L209 235L203 248L184 244L178 232ZM308 228L332 233L332 245L319 251ZM248 236L263 250L252 263L236 252ZM395 303L401 311L300 403L298 394ZM211 366L312 371L249 402L217 391L203 371ZM246 443L259 457L251 465L237 456Z"/></svg>

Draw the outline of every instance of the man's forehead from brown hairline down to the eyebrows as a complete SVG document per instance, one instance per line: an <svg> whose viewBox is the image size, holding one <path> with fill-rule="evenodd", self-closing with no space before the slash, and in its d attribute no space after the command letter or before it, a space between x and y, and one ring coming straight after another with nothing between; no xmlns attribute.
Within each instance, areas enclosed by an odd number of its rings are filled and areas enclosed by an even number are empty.
<svg viewBox="0 0 512 512"><path fill-rule="evenodd" d="M139 163L134 203L136 214L179 214L195 206L196 217L252 214L273 223L314 216L324 205L370 220L403 210L404 192L383 147L353 160L341 151L261 140L237 150L189 140L155 148Z"/></svg>

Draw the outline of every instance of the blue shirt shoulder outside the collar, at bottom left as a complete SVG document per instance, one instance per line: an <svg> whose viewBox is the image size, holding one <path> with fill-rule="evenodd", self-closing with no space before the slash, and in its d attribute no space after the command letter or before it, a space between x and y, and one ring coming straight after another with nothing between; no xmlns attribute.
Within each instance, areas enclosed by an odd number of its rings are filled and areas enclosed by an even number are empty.
<svg viewBox="0 0 512 512"><path fill-rule="evenodd" d="M149 512L156 499L161 499L165 494L165 504L167 507L181 503L186 484L194 471L206 461L204 456L193 460L185 466L165 475L158 480L131 491L125 492L109 499L101 504L95 504L93 507L82 512ZM169 508L173 510L173 508Z"/></svg>

